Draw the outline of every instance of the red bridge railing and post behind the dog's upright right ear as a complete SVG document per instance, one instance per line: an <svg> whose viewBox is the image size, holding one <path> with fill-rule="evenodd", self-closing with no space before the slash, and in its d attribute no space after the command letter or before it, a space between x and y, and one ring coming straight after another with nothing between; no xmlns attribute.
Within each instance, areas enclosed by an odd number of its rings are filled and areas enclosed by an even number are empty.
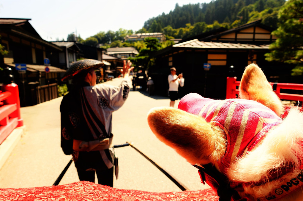
<svg viewBox="0 0 303 201"><path fill-rule="evenodd" d="M238 98L240 81L236 81L236 80L237 80L236 77L227 77L226 99ZM280 99L303 102L303 84L272 83L272 82L270 84L273 85L273 88ZM301 90L302 93L301 94L281 93L281 89Z"/></svg>

